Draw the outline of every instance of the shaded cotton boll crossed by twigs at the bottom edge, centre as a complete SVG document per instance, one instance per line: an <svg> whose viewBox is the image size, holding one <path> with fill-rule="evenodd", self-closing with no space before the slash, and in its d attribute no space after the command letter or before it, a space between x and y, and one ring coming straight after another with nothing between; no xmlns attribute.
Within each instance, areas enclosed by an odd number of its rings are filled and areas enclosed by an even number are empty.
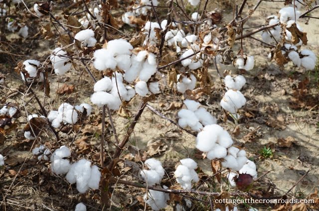
<svg viewBox="0 0 319 211"><path fill-rule="evenodd" d="M167 187L163 187L167 188ZM154 211L159 211L167 206L167 200L169 200L169 194L160 191L149 190L143 197L144 201Z"/></svg>

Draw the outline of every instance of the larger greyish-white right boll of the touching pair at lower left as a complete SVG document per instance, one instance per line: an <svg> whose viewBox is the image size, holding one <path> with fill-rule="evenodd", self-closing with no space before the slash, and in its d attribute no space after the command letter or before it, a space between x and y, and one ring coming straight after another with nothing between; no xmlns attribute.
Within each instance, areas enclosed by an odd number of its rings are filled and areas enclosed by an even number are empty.
<svg viewBox="0 0 319 211"><path fill-rule="evenodd" d="M71 184L76 183L76 189L83 194L89 188L99 188L101 172L96 165L91 166L91 161L81 159L71 165L65 178Z"/></svg>

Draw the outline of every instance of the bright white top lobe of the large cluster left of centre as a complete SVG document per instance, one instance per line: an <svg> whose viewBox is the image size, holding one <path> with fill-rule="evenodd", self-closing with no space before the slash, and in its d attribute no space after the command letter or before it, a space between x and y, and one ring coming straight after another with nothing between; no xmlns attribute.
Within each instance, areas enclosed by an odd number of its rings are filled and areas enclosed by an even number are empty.
<svg viewBox="0 0 319 211"><path fill-rule="evenodd" d="M131 55L133 46L125 39L115 39L108 42L107 49L113 53L113 56Z"/></svg>

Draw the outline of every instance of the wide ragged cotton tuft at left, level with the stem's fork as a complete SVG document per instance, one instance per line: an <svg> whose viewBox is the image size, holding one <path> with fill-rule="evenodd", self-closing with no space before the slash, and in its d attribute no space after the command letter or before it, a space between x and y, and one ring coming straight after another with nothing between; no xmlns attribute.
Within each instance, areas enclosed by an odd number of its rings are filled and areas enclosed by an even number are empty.
<svg viewBox="0 0 319 211"><path fill-rule="evenodd" d="M86 115L92 112L92 106L89 104L81 104L72 106L68 103L63 103L58 110L51 110L48 114L48 120L54 128L60 127L62 124L75 124L78 121L78 112L83 113L86 109Z"/></svg>

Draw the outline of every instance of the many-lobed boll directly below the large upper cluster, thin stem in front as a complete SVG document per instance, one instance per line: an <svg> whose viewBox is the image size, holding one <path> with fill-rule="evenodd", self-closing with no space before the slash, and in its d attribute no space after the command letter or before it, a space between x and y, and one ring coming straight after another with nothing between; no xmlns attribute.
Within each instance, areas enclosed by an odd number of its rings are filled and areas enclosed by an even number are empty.
<svg viewBox="0 0 319 211"><path fill-rule="evenodd" d="M118 110L124 101L130 101L135 96L135 90L131 86L124 85L123 75L116 72L112 80L104 77L94 85L94 94L91 102L99 107L108 106L112 110Z"/></svg>

